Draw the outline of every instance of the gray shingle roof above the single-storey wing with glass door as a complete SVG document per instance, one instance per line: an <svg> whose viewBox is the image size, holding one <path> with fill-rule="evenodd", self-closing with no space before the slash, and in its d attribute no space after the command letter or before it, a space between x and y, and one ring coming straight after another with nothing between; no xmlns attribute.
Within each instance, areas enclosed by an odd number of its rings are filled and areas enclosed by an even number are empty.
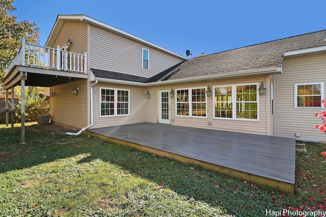
<svg viewBox="0 0 326 217"><path fill-rule="evenodd" d="M155 81L280 67L286 51L325 46L326 30L188 59Z"/></svg>

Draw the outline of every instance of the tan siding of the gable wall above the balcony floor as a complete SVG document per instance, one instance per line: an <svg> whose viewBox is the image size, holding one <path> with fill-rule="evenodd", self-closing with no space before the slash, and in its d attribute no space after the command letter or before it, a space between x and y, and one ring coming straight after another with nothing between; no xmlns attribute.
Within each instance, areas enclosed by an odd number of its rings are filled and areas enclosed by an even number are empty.
<svg viewBox="0 0 326 217"><path fill-rule="evenodd" d="M58 37L52 47L61 48L67 45L67 40L73 40L71 52L84 54L87 52L87 23L77 21L65 21Z"/></svg>

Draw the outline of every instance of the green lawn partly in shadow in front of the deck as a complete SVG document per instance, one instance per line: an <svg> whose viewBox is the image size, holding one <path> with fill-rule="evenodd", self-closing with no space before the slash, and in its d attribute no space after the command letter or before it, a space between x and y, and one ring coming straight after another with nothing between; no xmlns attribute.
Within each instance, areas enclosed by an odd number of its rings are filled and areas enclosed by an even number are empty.
<svg viewBox="0 0 326 217"><path fill-rule="evenodd" d="M0 125L2 216L266 216L326 211L326 147L296 155L295 195L57 126Z"/></svg>

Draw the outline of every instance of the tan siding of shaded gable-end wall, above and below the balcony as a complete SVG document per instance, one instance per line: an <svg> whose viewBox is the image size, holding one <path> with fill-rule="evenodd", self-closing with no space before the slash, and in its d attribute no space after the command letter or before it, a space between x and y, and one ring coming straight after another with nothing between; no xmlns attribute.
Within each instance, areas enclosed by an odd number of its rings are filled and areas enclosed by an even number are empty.
<svg viewBox="0 0 326 217"><path fill-rule="evenodd" d="M65 21L58 37L52 45L63 49L67 40L73 40L71 52L84 54L87 52L88 24L77 21ZM51 87L56 91L51 97L50 114L53 122L72 129L81 129L89 125L89 85L87 80L67 83ZM79 94L73 95L72 89L78 86Z"/></svg>

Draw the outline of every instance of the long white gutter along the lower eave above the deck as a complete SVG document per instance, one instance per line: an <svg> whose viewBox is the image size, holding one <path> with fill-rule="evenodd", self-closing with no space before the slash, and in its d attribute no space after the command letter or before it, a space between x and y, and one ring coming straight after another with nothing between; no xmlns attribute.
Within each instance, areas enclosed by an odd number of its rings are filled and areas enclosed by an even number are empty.
<svg viewBox="0 0 326 217"><path fill-rule="evenodd" d="M237 78L242 76L258 76L258 75L268 75L268 74L282 74L282 67L270 67L265 69L255 69L255 70L246 70L239 72L229 72L218 75L204 75L198 77L189 77L189 78L180 78L174 80L166 80L166 81L155 81L150 83L142 83L135 81L124 81L124 80L116 80L109 78L96 78L98 81L102 82L112 82L116 84L127 84L127 85L136 85L136 86L153 86L160 84L178 84L184 82L194 82L194 81L207 81L212 79L228 79L228 78Z"/></svg>

